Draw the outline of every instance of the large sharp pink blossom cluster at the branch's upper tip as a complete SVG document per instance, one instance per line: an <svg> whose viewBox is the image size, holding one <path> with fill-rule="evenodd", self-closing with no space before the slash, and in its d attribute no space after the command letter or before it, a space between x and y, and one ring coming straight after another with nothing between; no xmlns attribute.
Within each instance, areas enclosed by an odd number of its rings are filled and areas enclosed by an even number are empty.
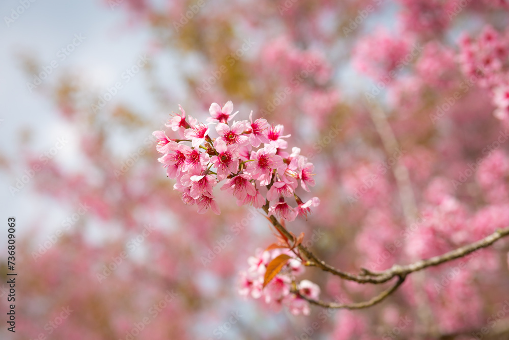
<svg viewBox="0 0 509 340"><path fill-rule="evenodd" d="M269 125L264 118L253 121L232 121L233 103L221 108L212 103L207 123L186 116L184 109L166 124L179 139L169 138L163 131L155 131L156 149L163 155L159 162L169 178L177 180L174 189L182 193L186 204L196 204L198 213L209 208L216 214L219 206L213 194L218 182L225 180L221 190L231 193L238 205L251 204L261 208L269 201L269 216L293 221L306 217L320 200L317 197L303 202L295 193L299 182L303 190L315 186L314 165L288 143L284 126ZM213 132L217 137L213 138ZM190 145L189 145L190 144ZM287 202L294 199L295 206Z"/></svg>

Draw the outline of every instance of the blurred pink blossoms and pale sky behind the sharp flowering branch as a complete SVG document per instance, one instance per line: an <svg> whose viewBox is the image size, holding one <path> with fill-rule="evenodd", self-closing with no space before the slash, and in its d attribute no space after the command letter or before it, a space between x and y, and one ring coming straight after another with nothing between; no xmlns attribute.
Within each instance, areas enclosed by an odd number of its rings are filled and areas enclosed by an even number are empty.
<svg viewBox="0 0 509 340"><path fill-rule="evenodd" d="M508 338L504 241L412 275L370 309L293 316L242 298L238 272L274 242L267 220L219 190L221 215L196 214L152 136L179 104L203 121L232 100L239 120L252 110L284 124L315 164L310 194L322 203L288 227L318 235L309 245L321 258L357 272L444 253L509 225L508 8L3 1L0 337ZM312 268L303 278L329 301L385 288Z"/></svg>

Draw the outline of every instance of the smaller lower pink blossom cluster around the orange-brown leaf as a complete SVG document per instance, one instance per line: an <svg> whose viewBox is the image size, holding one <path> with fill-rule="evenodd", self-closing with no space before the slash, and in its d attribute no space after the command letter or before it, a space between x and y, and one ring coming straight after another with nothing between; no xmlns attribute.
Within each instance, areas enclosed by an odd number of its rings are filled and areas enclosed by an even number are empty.
<svg viewBox="0 0 509 340"><path fill-rule="evenodd" d="M292 258L264 288L267 265L280 254ZM295 277L304 273L304 266L295 253L289 249L258 249L257 255L250 256L247 263L247 271L240 273L240 295L254 299L263 297L275 310L286 306L293 315L309 315L309 302L302 297L318 300L320 287L309 280L296 282Z"/></svg>

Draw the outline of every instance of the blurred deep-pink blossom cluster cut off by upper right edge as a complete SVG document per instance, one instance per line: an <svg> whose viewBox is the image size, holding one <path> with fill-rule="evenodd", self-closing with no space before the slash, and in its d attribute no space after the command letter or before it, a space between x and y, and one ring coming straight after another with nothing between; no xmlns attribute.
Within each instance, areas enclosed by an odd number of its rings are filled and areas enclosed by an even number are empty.
<svg viewBox="0 0 509 340"><path fill-rule="evenodd" d="M499 33L486 25L477 39L464 35L460 41L463 72L479 86L491 90L495 117L509 121L509 31Z"/></svg>

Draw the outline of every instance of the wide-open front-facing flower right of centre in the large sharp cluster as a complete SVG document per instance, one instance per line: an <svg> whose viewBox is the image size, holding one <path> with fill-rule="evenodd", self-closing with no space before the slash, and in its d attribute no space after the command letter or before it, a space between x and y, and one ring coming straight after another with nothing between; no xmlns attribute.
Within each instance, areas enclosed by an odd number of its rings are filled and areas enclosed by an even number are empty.
<svg viewBox="0 0 509 340"><path fill-rule="evenodd" d="M276 151L273 145L259 149L256 153L251 151L251 159L254 161L247 163L245 172L252 178L260 180L262 186L269 184L272 169L280 168L284 164L281 156L276 155Z"/></svg>

